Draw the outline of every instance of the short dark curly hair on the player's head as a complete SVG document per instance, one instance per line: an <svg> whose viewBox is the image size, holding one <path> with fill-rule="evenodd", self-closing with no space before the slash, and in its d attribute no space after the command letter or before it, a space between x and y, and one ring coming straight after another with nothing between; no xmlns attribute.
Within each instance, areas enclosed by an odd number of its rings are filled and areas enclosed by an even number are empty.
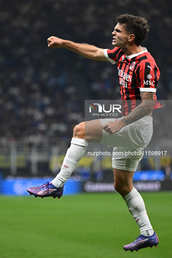
<svg viewBox="0 0 172 258"><path fill-rule="evenodd" d="M147 20L143 17L123 14L116 18L116 22L123 25L128 35L134 34L136 45L141 45L149 31Z"/></svg>

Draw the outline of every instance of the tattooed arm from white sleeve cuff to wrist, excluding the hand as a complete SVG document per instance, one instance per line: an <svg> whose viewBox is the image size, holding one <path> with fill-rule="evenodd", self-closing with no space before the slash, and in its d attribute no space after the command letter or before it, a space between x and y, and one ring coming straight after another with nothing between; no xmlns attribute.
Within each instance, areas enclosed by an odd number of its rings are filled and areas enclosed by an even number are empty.
<svg viewBox="0 0 172 258"><path fill-rule="evenodd" d="M141 99L142 103L135 107L130 114L121 119L124 126L141 119L143 116L146 116L153 110L154 92L141 91Z"/></svg>

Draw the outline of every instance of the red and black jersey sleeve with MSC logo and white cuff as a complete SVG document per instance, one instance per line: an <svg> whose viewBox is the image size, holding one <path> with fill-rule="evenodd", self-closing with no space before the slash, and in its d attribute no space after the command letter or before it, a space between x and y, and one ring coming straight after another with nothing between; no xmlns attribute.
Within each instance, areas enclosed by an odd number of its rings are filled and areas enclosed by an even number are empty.
<svg viewBox="0 0 172 258"><path fill-rule="evenodd" d="M159 79L159 69L155 63L141 63L137 69L140 91L156 92Z"/></svg>

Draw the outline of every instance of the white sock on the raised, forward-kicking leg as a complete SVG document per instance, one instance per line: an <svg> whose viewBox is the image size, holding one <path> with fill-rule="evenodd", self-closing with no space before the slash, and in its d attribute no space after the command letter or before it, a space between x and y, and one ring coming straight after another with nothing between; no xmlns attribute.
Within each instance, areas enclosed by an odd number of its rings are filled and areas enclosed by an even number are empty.
<svg viewBox="0 0 172 258"><path fill-rule="evenodd" d="M52 180L52 184L58 188L62 188L68 180L78 162L84 156L88 142L80 138L72 138L70 148L67 150L61 171Z"/></svg>

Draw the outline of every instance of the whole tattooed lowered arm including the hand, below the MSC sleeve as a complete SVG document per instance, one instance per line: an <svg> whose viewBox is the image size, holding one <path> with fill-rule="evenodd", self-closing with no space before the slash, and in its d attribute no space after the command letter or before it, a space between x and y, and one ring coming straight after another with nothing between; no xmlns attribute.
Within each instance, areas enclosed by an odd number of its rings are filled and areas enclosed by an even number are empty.
<svg viewBox="0 0 172 258"><path fill-rule="evenodd" d="M124 126L141 119L143 116L151 114L154 107L154 92L141 91L140 94L142 103L135 107L130 114L117 122L108 122L107 124L102 125L102 128L111 135L118 132Z"/></svg>

